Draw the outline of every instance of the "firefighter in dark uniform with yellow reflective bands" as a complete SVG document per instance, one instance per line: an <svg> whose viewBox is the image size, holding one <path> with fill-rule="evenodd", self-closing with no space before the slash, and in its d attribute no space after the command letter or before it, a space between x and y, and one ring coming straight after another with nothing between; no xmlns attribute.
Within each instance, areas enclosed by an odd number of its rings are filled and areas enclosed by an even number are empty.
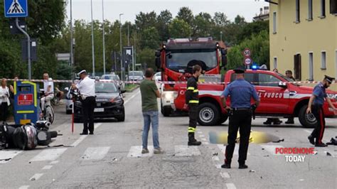
<svg viewBox="0 0 337 189"><path fill-rule="evenodd" d="M193 76L187 81L186 101L184 108L188 107L188 117L190 121L188 123L188 146L199 146L200 141L194 138L196 132L196 124L198 118L198 104L199 104L199 92L198 92L198 77L201 75L202 69L200 65L193 65Z"/></svg>

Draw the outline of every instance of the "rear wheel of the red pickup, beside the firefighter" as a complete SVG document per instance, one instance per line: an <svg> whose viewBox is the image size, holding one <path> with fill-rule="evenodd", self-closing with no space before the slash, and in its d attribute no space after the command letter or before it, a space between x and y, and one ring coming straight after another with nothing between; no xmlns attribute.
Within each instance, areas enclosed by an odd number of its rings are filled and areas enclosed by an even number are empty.
<svg viewBox="0 0 337 189"><path fill-rule="evenodd" d="M204 126L218 124L220 120L220 112L214 104L205 102L199 105L198 123Z"/></svg>

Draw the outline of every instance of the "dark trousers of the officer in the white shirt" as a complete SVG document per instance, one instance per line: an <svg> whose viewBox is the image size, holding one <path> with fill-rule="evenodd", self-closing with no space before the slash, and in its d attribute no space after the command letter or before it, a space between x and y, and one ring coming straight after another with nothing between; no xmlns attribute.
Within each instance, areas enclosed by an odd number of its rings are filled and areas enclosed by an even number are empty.
<svg viewBox="0 0 337 189"><path fill-rule="evenodd" d="M86 97L82 100L82 111L83 111L83 133L87 134L89 129L90 133L94 133L94 109L96 100L95 97ZM89 123L89 127L88 127Z"/></svg>

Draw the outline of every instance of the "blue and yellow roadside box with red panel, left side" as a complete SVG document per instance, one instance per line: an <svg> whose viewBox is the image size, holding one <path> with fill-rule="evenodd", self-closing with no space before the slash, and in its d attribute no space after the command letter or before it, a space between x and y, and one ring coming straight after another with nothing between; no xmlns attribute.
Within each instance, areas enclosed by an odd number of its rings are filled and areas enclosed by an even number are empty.
<svg viewBox="0 0 337 189"><path fill-rule="evenodd" d="M14 82L14 118L16 124L36 123L39 119L39 87L22 80Z"/></svg>

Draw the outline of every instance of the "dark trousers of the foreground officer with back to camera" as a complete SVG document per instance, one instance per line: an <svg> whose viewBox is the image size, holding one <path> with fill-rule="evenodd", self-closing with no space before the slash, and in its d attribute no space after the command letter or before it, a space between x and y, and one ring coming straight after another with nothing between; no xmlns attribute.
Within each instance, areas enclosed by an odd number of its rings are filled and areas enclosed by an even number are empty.
<svg viewBox="0 0 337 189"><path fill-rule="evenodd" d="M229 119L225 163L230 164L232 162L237 131L240 129L239 164L245 164L250 140L250 128L252 126L252 112L250 109L233 110L233 114Z"/></svg>

